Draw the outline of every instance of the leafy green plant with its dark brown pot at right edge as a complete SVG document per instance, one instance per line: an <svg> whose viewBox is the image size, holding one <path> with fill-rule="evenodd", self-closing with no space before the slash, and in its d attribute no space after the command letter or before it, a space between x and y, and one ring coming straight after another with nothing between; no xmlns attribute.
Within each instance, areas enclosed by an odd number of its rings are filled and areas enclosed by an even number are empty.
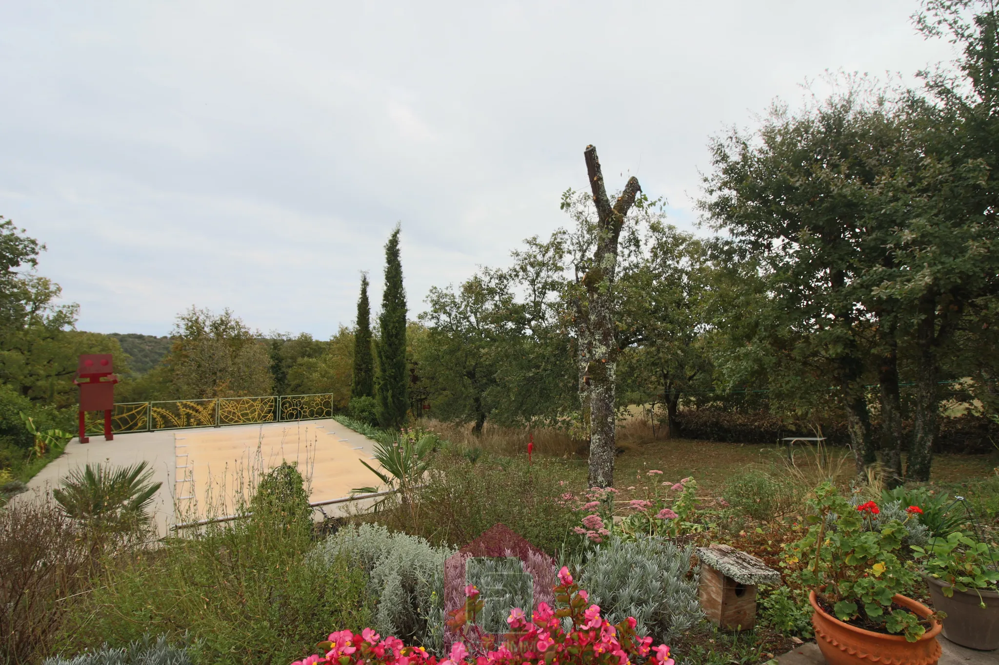
<svg viewBox="0 0 999 665"><path fill-rule="evenodd" d="M971 649L999 649L999 571L989 546L955 531L912 549L925 559L933 606L947 613L943 636Z"/></svg>

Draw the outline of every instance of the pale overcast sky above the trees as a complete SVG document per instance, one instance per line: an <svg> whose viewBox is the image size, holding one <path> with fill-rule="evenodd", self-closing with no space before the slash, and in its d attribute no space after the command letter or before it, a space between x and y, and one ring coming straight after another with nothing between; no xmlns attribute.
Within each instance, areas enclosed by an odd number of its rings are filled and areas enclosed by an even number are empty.
<svg viewBox="0 0 999 665"><path fill-rule="evenodd" d="M567 218L597 148L690 230L710 137L829 71L952 60L914 1L4 2L0 215L47 245L78 328L168 334L193 305L325 339L410 317ZM698 232L704 232L700 230Z"/></svg>

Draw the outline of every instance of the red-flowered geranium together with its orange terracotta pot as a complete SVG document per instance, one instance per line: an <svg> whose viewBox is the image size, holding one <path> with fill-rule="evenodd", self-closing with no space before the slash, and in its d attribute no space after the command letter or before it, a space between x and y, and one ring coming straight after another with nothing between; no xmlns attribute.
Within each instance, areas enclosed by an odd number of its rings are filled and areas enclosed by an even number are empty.
<svg viewBox="0 0 999 665"><path fill-rule="evenodd" d="M808 534L791 546L811 587L815 641L831 665L930 665L940 657L941 615L901 594L915 581L895 551L908 531L874 528L873 501L856 507L829 483L815 490Z"/></svg>

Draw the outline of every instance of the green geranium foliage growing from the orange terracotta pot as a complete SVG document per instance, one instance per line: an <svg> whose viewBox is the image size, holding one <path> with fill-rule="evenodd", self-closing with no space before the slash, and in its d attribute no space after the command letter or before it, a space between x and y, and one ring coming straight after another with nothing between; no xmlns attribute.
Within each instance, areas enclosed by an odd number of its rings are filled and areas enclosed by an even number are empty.
<svg viewBox="0 0 999 665"><path fill-rule="evenodd" d="M915 581L895 553L908 534L905 526L896 520L871 530L863 512L829 483L815 489L809 506L808 533L790 548L803 562L801 580L812 587L825 586L822 597L840 620L864 616L888 632L903 633L910 642L919 639L926 631L921 618L891 610L892 596L904 593Z"/></svg>

